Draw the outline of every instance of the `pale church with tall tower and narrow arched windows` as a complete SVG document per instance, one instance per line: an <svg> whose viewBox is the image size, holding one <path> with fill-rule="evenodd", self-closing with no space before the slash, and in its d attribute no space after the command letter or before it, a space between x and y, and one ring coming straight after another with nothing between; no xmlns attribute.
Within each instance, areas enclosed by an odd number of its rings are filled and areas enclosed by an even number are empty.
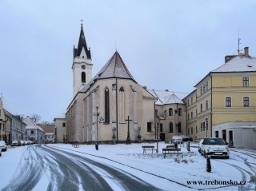
<svg viewBox="0 0 256 191"><path fill-rule="evenodd" d="M136 82L118 51L92 77L90 48L81 25L74 46L73 100L66 111L66 139L83 143L155 140L155 101Z"/></svg>

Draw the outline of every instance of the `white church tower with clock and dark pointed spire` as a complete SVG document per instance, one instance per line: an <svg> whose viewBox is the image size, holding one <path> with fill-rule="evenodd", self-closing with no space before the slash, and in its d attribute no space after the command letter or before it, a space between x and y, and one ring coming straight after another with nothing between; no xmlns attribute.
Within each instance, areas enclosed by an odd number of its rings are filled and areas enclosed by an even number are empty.
<svg viewBox="0 0 256 191"><path fill-rule="evenodd" d="M92 67L90 48L89 50L87 49L86 37L81 24L78 48L74 46L74 60L72 65L73 97L92 79Z"/></svg>

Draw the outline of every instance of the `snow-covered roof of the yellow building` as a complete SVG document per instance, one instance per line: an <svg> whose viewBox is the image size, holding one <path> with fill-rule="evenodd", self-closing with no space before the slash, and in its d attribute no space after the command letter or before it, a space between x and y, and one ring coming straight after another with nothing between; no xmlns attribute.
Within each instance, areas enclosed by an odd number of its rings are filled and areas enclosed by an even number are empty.
<svg viewBox="0 0 256 191"><path fill-rule="evenodd" d="M226 73L226 72L255 72L256 58L240 54L234 56L229 62L226 62L218 69L211 71L212 73Z"/></svg>

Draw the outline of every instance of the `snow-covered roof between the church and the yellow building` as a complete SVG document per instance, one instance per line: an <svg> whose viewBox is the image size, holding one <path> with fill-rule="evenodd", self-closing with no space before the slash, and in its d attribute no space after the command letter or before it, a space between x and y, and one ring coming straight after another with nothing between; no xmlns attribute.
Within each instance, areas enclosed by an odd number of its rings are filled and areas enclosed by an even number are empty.
<svg viewBox="0 0 256 191"><path fill-rule="evenodd" d="M168 90L148 90L150 94L154 95L154 97L158 98L156 101L156 105L165 105L165 104L173 104L173 103L181 103L184 102L176 95L174 92L170 92Z"/></svg>

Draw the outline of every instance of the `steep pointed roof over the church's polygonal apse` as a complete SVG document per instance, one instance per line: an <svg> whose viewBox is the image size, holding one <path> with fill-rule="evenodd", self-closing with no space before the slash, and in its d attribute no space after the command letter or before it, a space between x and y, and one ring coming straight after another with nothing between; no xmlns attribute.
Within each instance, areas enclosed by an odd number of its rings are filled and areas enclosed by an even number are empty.
<svg viewBox="0 0 256 191"><path fill-rule="evenodd" d="M80 92L86 92L97 80L106 78L123 78L136 82L122 61L118 51L116 51L110 60L106 62L106 65L102 67L102 70Z"/></svg>

